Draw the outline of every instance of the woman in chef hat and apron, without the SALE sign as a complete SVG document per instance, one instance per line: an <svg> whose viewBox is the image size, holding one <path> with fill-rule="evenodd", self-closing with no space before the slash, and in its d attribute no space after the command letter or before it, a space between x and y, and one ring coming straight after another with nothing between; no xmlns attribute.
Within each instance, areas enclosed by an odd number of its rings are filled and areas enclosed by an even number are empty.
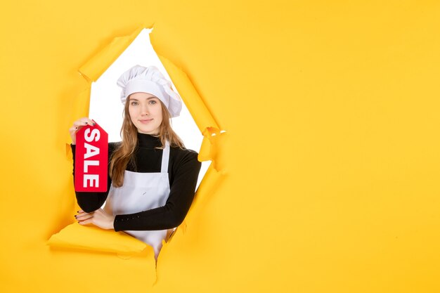
<svg viewBox="0 0 440 293"><path fill-rule="evenodd" d="M193 202L201 163L170 126L170 118L180 114L181 99L156 67L136 65L117 84L124 121L122 141L108 145L108 191L75 192L82 208L75 218L81 225L123 230L151 245L157 259L162 240L169 239ZM94 122L78 119L70 128L74 161L75 134L87 124Z"/></svg>

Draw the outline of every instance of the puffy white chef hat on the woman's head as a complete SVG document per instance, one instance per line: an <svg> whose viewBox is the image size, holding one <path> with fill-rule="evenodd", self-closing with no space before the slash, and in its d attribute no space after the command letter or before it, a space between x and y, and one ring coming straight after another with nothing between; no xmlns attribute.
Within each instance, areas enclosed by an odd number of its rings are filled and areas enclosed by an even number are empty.
<svg viewBox="0 0 440 293"><path fill-rule="evenodd" d="M155 66L135 65L117 79L117 85L122 88L123 104L131 93L150 93L164 103L171 117L180 115L182 100L179 94L172 90L171 82Z"/></svg>

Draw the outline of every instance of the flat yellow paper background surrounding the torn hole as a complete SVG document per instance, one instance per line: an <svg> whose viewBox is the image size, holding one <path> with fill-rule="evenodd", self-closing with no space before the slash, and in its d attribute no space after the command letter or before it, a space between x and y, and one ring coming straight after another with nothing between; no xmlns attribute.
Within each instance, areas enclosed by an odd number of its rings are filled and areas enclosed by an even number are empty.
<svg viewBox="0 0 440 293"><path fill-rule="evenodd" d="M439 292L436 1L8 1L0 13L1 292ZM78 70L153 24L155 50L227 131L226 174L164 247L157 280L148 256L46 246L74 222Z"/></svg>

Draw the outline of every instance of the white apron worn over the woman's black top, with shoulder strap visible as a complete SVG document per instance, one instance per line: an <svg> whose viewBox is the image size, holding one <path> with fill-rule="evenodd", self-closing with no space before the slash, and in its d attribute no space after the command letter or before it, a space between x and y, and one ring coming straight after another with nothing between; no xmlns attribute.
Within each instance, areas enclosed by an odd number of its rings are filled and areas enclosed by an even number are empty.
<svg viewBox="0 0 440 293"><path fill-rule="evenodd" d="M124 184L120 188L110 187L104 210L109 214L134 214L139 211L162 207L169 196L168 179L169 142L162 152L160 173L137 173L124 171ZM155 259L162 248L167 230L124 230L153 247Z"/></svg>

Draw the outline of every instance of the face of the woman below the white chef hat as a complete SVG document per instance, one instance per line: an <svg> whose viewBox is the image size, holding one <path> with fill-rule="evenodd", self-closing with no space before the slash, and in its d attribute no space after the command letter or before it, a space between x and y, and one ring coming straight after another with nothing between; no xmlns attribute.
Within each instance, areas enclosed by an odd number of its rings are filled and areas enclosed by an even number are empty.
<svg viewBox="0 0 440 293"><path fill-rule="evenodd" d="M150 93L132 93L129 96L131 122L141 134L159 134L162 123L160 100Z"/></svg>

